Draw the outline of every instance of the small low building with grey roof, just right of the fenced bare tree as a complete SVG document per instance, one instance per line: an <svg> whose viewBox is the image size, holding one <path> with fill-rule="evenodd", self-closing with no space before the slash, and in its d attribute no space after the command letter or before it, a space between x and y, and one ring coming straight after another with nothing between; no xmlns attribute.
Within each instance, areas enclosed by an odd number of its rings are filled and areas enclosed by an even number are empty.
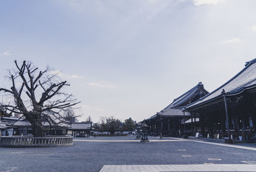
<svg viewBox="0 0 256 172"><path fill-rule="evenodd" d="M90 137L92 130L92 122L87 121L83 123L72 123L71 127L68 128L68 134L74 137Z"/></svg>

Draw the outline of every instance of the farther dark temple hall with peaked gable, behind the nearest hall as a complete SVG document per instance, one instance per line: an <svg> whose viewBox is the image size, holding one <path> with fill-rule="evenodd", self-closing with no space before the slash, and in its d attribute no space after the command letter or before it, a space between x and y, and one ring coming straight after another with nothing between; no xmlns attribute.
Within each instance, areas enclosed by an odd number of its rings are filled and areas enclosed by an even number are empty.
<svg viewBox="0 0 256 172"><path fill-rule="evenodd" d="M148 134L153 136L158 136L160 133L163 136L179 136L183 134L184 129L180 127L180 123L182 120L186 121L191 118L189 112L184 111L184 108L208 93L204 89L202 82L199 82L191 90L175 98L172 104L145 120L149 126Z"/></svg>

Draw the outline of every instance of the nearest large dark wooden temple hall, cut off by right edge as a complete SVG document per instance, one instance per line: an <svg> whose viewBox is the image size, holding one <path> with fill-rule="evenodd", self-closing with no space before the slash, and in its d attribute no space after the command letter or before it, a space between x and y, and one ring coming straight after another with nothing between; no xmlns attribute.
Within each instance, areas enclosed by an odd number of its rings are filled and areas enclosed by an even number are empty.
<svg viewBox="0 0 256 172"><path fill-rule="evenodd" d="M255 139L256 59L205 97L186 107L199 118L200 134L209 137Z"/></svg>

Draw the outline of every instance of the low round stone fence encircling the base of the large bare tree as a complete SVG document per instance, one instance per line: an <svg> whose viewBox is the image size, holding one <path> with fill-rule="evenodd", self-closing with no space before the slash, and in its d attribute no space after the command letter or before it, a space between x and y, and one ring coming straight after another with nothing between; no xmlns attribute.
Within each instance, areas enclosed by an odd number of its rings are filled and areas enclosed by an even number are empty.
<svg viewBox="0 0 256 172"><path fill-rule="evenodd" d="M44 147L44 146L70 146L73 145L72 136L2 136L1 146L10 147Z"/></svg>

